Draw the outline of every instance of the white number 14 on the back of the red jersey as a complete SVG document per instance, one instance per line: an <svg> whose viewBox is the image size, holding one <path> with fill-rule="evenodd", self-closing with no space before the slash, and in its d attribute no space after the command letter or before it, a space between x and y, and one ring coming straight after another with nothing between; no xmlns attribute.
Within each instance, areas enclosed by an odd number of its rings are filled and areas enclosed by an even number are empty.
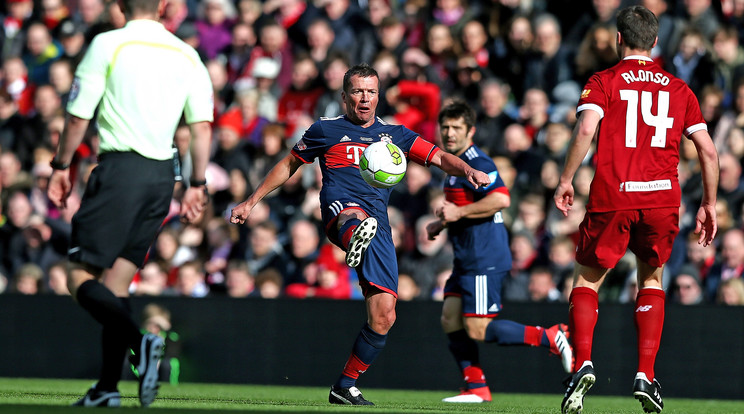
<svg viewBox="0 0 744 414"><path fill-rule="evenodd" d="M628 103L625 113L625 146L636 148L638 136L638 92L632 89L621 89L620 99ZM656 115L651 113L654 95L649 91L641 91L641 118L643 123L654 127L654 136L651 137L651 146L664 148L666 146L666 133L674 125L674 118L669 117L669 92L659 91L656 97Z"/></svg>

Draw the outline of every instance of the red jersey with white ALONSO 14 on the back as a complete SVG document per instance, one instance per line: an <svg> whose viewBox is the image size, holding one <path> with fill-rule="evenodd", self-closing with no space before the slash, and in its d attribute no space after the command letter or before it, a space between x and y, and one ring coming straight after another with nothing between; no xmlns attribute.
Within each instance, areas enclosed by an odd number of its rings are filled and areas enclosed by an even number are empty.
<svg viewBox="0 0 744 414"><path fill-rule="evenodd" d="M628 56L589 79L577 112L587 109L602 117L587 210L679 207L680 139L708 128L687 84Z"/></svg>

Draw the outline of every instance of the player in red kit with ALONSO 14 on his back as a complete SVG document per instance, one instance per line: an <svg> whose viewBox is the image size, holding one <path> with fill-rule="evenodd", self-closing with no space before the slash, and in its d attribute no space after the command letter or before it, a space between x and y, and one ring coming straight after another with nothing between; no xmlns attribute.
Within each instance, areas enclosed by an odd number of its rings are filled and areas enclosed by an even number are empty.
<svg viewBox="0 0 744 414"><path fill-rule="evenodd" d="M634 316L638 373L633 394L646 412L659 413L664 407L654 362L664 324L662 269L679 232L677 165L682 135L694 143L702 167L703 198L695 226L698 242L710 244L717 231L718 155L695 95L649 57L658 28L656 16L642 6L618 14L621 61L592 76L584 87L554 195L555 205L567 215L573 204L574 174L596 136L596 174L579 228L569 299L576 360L561 404L564 414L581 413L584 395L596 380L591 351L597 291L628 248L636 255L640 288Z"/></svg>

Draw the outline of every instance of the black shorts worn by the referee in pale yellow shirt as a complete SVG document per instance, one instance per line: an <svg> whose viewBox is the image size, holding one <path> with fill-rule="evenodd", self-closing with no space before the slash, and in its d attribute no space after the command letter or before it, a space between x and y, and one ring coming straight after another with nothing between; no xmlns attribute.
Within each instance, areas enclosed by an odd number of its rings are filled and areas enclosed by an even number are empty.
<svg viewBox="0 0 744 414"><path fill-rule="evenodd" d="M142 266L170 209L173 185L173 160L102 154L72 218L70 261L106 269L121 257Z"/></svg>

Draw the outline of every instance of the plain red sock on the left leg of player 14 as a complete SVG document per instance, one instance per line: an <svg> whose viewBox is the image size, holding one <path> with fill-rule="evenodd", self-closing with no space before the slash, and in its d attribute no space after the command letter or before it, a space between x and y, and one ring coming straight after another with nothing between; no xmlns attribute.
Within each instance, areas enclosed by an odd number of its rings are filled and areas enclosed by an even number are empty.
<svg viewBox="0 0 744 414"><path fill-rule="evenodd" d="M597 325L599 297L594 289L576 287L568 300L568 324L576 362L574 369L592 360L592 340Z"/></svg>

